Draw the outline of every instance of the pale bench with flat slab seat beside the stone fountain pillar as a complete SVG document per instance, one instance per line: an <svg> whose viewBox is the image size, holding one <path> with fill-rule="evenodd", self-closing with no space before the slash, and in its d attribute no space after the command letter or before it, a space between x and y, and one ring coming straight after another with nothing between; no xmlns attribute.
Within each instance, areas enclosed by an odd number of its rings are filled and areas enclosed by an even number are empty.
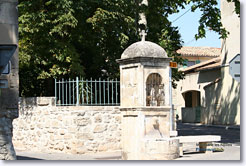
<svg viewBox="0 0 246 166"><path fill-rule="evenodd" d="M199 151L204 153L213 153L213 142L221 141L219 135L196 135L196 136L179 136L180 156L183 156L183 143L199 143Z"/></svg>

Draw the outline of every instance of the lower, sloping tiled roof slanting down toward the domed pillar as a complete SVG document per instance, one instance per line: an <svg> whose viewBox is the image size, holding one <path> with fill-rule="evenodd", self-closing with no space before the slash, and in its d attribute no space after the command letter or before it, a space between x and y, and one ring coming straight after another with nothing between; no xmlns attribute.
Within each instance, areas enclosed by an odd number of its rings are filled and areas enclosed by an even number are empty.
<svg viewBox="0 0 246 166"><path fill-rule="evenodd" d="M189 73L189 72L197 72L201 70L213 69L213 68L217 68L220 66L221 66L221 58L217 57L217 58L213 58L213 59L207 60L202 63L198 63L196 65L187 67L185 69L180 69L180 71L184 73Z"/></svg>

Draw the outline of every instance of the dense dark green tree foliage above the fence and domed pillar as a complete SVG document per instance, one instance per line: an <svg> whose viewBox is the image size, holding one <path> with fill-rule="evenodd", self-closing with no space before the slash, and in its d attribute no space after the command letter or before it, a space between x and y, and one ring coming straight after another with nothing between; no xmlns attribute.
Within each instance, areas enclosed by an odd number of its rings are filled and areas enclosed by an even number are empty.
<svg viewBox="0 0 246 166"><path fill-rule="evenodd" d="M182 46L180 34L167 18L189 3L193 3L192 11L203 12L197 39L205 37L206 27L222 38L227 35L216 0L149 0L148 7L139 6L139 1L19 0L21 95L53 95L49 87L54 78L119 77L115 60L140 40L139 29L143 28L147 40L182 63L176 53ZM147 27L138 25L139 12L145 12ZM173 71L173 80L182 77Z"/></svg>

